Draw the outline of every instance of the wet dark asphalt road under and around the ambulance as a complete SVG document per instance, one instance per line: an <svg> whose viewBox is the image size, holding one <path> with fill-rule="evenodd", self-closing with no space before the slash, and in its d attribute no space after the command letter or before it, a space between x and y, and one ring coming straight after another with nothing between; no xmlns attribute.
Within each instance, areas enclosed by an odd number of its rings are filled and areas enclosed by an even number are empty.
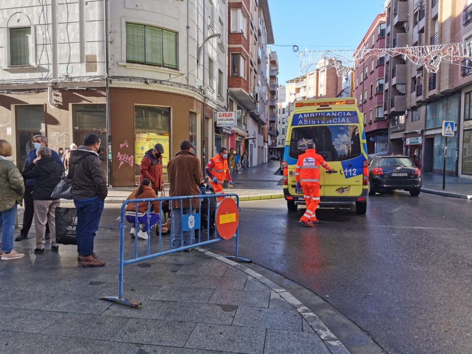
<svg viewBox="0 0 472 354"><path fill-rule="evenodd" d="M472 202L408 192L367 214L319 209L300 226L284 200L243 202L240 255L301 284L390 354L472 353ZM102 227L116 228L118 206ZM231 241L215 244L233 252Z"/></svg>

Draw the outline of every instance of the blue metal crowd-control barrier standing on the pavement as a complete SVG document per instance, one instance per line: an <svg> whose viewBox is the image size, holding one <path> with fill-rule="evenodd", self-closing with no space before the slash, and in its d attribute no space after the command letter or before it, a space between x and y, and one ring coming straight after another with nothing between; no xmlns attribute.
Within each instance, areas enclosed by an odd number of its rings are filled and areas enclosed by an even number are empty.
<svg viewBox="0 0 472 354"><path fill-rule="evenodd" d="M127 306L131 306L131 307L139 307L141 305L141 303L137 302L137 301L134 301L134 300L130 300L130 299L126 299L126 298L123 298L123 268L124 266L127 266L127 265L130 265L130 264L133 264L133 263L138 263L138 262L141 262L141 261L146 261L146 260L149 260L149 259L152 259L152 258L156 258L156 257L159 257L159 256L163 256L163 255L166 255L166 254L171 254L171 253L175 253L175 252L179 252L179 251L182 251L182 250L186 250L186 249L189 249L189 248L194 248L194 247L198 247L198 246L204 246L204 245L207 245L207 244L211 244L211 243L214 243L214 242L218 242L218 241L221 241L221 240L224 240L223 238L219 237L218 236L218 230L216 228L216 220L215 220L215 228L214 228L214 237L213 238L210 238L210 198L214 198L215 199L215 205L217 205L216 203L216 198L217 197L224 197L224 198L231 198L231 197L236 197L236 205L237 205L237 209L239 210L239 197L237 194L210 194L210 195L198 195L198 196L185 196L185 197L161 197L161 198L147 198L147 199L130 199L130 200L127 200L125 202L123 202L123 204L121 205L121 212L120 212L120 218L119 218L119 273L118 273L118 296L104 296L102 297L101 299L102 300L107 300L107 301L113 301L113 302L116 302L116 303L119 303L119 304L122 304L122 305L127 305ZM198 208L198 211L195 210L195 212L192 212L192 207L190 207L190 214L183 214L183 201L185 200L188 200L189 201L189 205L191 206L192 205L192 200L198 200L198 203L199 203L199 208ZM206 214L207 214L207 239L206 240L202 240L202 230L201 230L201 223L200 223L200 218L201 216L203 215L203 212L205 210L202 210L202 201L204 199L208 199L208 202L207 202L207 210L206 210ZM168 250L164 250L162 249L162 203L163 202L166 202L168 201L169 202L169 209L170 209L170 217L171 217L171 229L170 229L170 243L169 243L169 249ZM172 243L173 243L173 231L174 231L174 208L172 206L172 202L173 201L180 201L180 221L181 221L181 224L180 224L180 247L177 247L177 248L173 248L172 246ZM146 212L147 214L147 235L148 235L148 247L147 247L147 255L145 256L141 256L141 257L138 257L138 231L139 231L139 227L140 227L140 224L138 222L138 203L142 203L142 202L147 202L148 203L148 210ZM157 253L151 253L151 237L150 237L150 230L152 229L152 225L151 225L151 222L150 222L150 219L151 219L151 203L153 202L159 202L159 215L160 215L160 219L159 219L159 222L156 224L156 227L159 228L159 243L158 243L158 252ZM124 229L125 229L125 213L126 213L126 206L128 204L131 204L131 203L135 203L135 206L136 206L136 210L135 210L135 224L134 224L134 227L135 227L135 241L134 241L134 259L130 259L130 260L124 260ZM217 207L215 208L215 218L216 218L216 210L217 210ZM143 215L144 216L144 215ZM186 216L186 217L184 217ZM188 220L188 218L191 218L193 217L193 226L190 225L191 223L189 223L189 225L187 226L187 229L186 230L191 230L192 231L196 231L198 229L198 242L196 243L193 243L193 241L196 241L196 235L194 235L195 239L192 239L192 237L190 237L190 245L186 245L186 246L183 246L183 243L184 243L184 239L183 239L183 232L184 232L184 224L183 224L183 220ZM197 225L196 222L199 222L199 224ZM191 227L192 226L192 227ZM236 259L236 260L239 260L239 261L242 261L242 262L251 262L250 260L246 259L246 258L242 258L242 257L239 257L238 256L238 246L239 246L239 225L236 229L236 247L235 247L235 255L234 256L226 256L226 258L232 258L232 259ZM232 237L234 238L234 237ZM231 239L232 239L231 238Z"/></svg>

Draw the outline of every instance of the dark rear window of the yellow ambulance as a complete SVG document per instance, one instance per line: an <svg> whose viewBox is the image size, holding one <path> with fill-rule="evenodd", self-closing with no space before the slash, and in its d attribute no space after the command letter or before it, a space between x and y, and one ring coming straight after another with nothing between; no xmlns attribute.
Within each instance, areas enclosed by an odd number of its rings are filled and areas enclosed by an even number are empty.
<svg viewBox="0 0 472 354"><path fill-rule="evenodd" d="M290 139L290 157L297 159L312 140L316 152L326 161L344 161L361 154L357 125L318 125L294 127Z"/></svg>

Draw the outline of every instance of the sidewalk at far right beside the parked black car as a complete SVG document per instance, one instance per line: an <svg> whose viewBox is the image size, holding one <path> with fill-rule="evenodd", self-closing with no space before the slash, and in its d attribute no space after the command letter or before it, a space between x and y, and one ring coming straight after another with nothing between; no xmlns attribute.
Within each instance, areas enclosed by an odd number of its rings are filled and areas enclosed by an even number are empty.
<svg viewBox="0 0 472 354"><path fill-rule="evenodd" d="M442 189L442 176L423 174L421 192L445 197L472 199L472 179L446 176L446 188Z"/></svg>

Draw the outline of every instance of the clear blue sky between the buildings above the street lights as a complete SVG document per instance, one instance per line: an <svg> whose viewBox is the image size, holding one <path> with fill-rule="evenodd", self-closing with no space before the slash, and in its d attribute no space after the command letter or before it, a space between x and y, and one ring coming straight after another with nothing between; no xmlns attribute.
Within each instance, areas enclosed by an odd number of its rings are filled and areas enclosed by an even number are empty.
<svg viewBox="0 0 472 354"><path fill-rule="evenodd" d="M299 51L356 49L384 0L268 0L279 59L279 84L298 76Z"/></svg>

